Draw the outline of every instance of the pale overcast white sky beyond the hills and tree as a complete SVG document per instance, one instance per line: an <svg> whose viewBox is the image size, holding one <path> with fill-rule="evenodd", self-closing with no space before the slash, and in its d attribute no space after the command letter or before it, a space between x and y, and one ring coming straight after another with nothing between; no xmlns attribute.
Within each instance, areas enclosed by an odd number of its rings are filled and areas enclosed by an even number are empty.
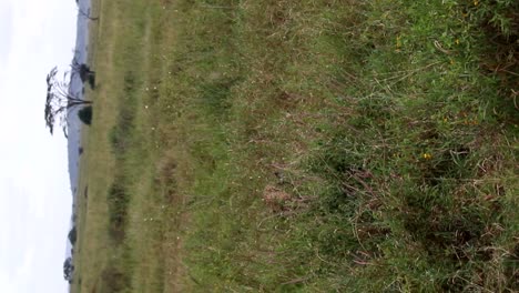
<svg viewBox="0 0 519 293"><path fill-rule="evenodd" d="M67 141L44 127L47 73L67 70L75 1L0 0L0 292L68 292Z"/></svg>

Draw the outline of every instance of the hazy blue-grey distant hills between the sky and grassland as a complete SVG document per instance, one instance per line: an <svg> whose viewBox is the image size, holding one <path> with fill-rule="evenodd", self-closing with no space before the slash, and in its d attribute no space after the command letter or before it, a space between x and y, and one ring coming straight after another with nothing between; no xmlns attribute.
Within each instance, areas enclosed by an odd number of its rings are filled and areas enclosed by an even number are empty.
<svg viewBox="0 0 519 293"><path fill-rule="evenodd" d="M90 0L79 0L78 9L89 13L90 12ZM88 52L89 52L89 20L86 17L78 12L77 21L77 37L75 37L75 49L74 59L81 64L88 64ZM71 60L72 63L72 60ZM83 99L83 84L79 74L72 74L70 79L69 92L80 99ZM80 109L74 108L69 111L68 115L68 156L69 156L69 175L70 186L72 192L72 211L75 211L75 200L80 191L78 190L79 184L79 160L80 160L80 148L81 148L81 121L78 118L78 111ZM72 219L71 219L72 220ZM74 225L71 221L71 228ZM67 240L67 256L71 256L72 245Z"/></svg>

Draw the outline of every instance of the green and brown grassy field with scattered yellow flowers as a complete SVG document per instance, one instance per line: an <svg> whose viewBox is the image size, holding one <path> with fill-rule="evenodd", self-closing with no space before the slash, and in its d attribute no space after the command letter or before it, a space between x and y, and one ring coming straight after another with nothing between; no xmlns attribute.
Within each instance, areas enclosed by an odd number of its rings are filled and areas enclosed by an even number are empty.
<svg viewBox="0 0 519 293"><path fill-rule="evenodd" d="M93 2L72 292L519 291L519 2Z"/></svg>

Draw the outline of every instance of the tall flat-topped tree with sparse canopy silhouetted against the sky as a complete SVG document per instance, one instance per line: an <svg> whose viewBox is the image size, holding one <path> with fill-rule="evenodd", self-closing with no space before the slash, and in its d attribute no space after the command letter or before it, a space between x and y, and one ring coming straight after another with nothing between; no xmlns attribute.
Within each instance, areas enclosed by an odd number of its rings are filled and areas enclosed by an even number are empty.
<svg viewBox="0 0 519 293"><path fill-rule="evenodd" d="M88 104L91 101L79 98L69 90L69 82L65 81L68 72L63 75L63 81L57 79L58 69L53 68L47 75L47 100L45 100L45 127L49 128L51 134L54 132L55 123L60 123L63 133L67 137L67 118L69 111Z"/></svg>

